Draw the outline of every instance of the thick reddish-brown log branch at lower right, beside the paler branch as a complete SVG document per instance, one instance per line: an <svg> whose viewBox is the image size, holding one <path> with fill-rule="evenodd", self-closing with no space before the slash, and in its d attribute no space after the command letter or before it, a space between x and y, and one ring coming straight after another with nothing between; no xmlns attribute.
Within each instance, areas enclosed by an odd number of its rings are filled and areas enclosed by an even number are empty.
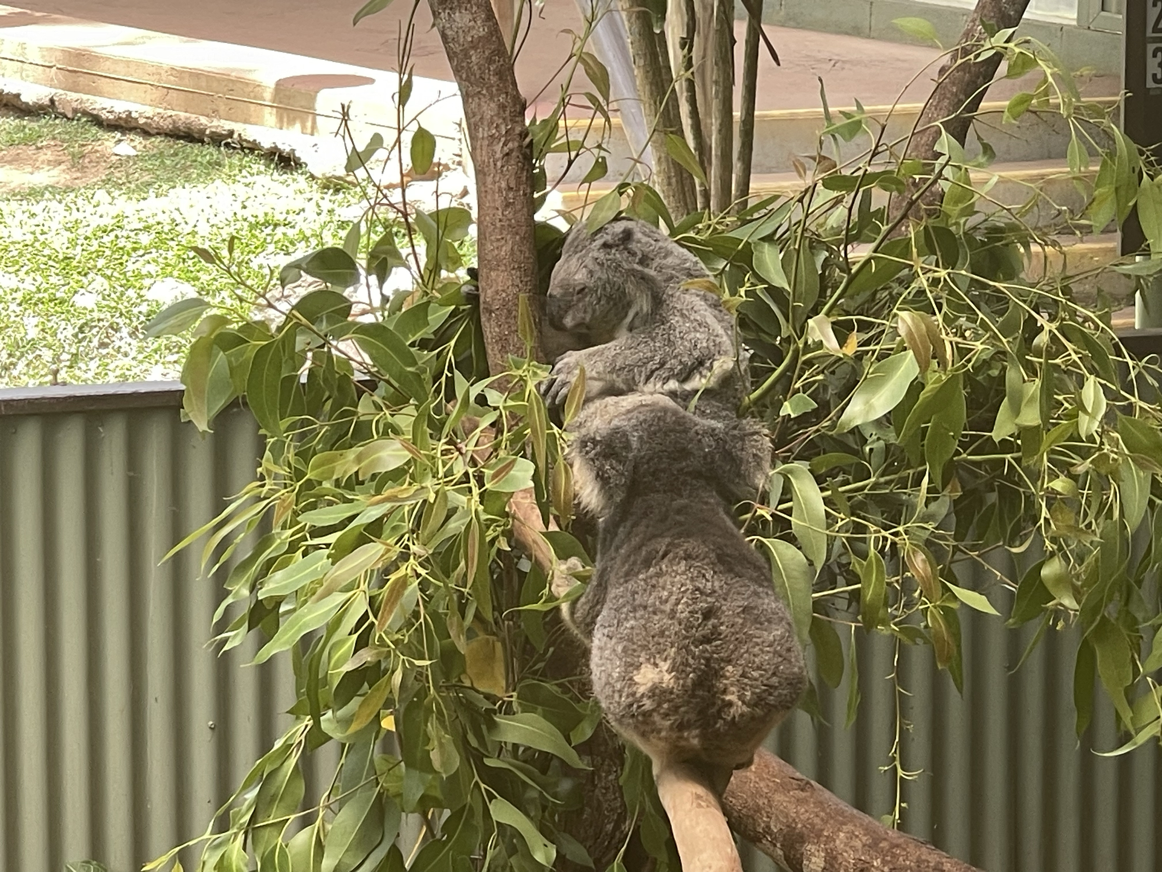
<svg viewBox="0 0 1162 872"><path fill-rule="evenodd" d="M738 835L791 872L974 872L855 810L769 751L734 773L723 806Z"/></svg>

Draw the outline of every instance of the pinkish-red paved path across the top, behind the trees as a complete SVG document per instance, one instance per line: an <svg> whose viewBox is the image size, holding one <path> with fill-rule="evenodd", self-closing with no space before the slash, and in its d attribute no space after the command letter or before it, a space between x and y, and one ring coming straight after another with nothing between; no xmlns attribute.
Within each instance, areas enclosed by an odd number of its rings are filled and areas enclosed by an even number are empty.
<svg viewBox="0 0 1162 872"><path fill-rule="evenodd" d="M0 28L15 23L52 27L44 15L106 24L120 24L189 40L266 49L289 56L318 58L370 70L396 70L400 34L411 10L408 0L396 0L386 10L351 26L351 16L361 0L22 0L24 15L3 16ZM411 62L416 76L451 80L451 71L425 2L415 19L416 37ZM738 23L741 52L743 23ZM544 110L555 99L553 85L571 47L567 30L579 31L581 16L574 0L546 0L533 17L518 55L516 70L526 98L537 99ZM934 48L876 42L853 36L819 34L768 26L767 33L779 50L782 66L776 67L765 53L760 63L758 108L813 109L819 106L822 77L832 106L891 103L908 88L909 101L920 101L931 88L939 56ZM156 40L146 35L139 40ZM917 77L908 87L909 81ZM363 73L354 73L363 74ZM1018 90L1016 83L1002 81L989 98L1006 98ZM544 93L541 93L544 91ZM1116 94L1118 83L1095 81L1095 95Z"/></svg>

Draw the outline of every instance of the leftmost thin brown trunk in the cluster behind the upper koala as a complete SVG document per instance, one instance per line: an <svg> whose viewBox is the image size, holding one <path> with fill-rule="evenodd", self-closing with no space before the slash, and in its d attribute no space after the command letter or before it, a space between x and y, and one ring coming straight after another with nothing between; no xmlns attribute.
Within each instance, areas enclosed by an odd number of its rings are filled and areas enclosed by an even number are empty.
<svg viewBox="0 0 1162 872"><path fill-rule="evenodd" d="M638 0L619 0L630 35L630 53L638 81L638 95L645 110L646 123L653 127L654 186L669 210L684 217L697 208L694 177L669 156L666 135L682 136L682 115L674 94L674 79L669 71L664 43L654 34L653 20Z"/></svg>

